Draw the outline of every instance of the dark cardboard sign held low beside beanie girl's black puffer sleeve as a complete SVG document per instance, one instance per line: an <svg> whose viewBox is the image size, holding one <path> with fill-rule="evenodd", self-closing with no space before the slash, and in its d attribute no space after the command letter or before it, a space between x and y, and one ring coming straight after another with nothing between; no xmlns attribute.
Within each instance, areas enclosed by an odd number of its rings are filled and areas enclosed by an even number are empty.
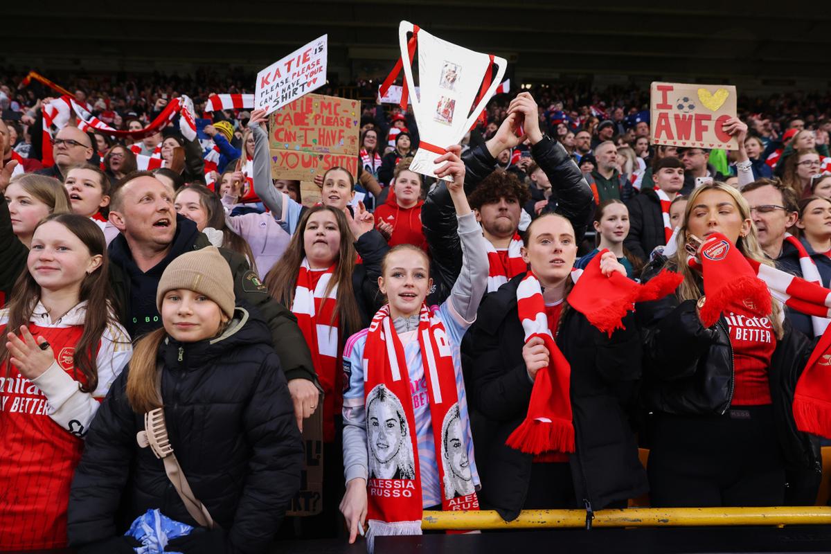
<svg viewBox="0 0 831 554"><path fill-rule="evenodd" d="M317 400L317 409L303 419L303 468L300 491L292 498L287 516L315 516L323 511L323 395Z"/></svg>

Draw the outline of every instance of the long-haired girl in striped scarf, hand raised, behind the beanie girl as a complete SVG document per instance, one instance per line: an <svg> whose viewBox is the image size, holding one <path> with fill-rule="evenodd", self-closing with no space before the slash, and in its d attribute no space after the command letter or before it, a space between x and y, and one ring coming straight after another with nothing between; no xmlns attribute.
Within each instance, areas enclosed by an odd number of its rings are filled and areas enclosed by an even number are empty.
<svg viewBox="0 0 831 554"><path fill-rule="evenodd" d="M377 279L388 250L372 223L361 204L354 218L332 206L307 209L285 254L265 277L271 295L297 316L323 387L323 482L333 493L324 496L320 517L302 518L315 537L336 537L342 527L335 492L343 489L341 353L347 337L366 326L377 309Z"/></svg>

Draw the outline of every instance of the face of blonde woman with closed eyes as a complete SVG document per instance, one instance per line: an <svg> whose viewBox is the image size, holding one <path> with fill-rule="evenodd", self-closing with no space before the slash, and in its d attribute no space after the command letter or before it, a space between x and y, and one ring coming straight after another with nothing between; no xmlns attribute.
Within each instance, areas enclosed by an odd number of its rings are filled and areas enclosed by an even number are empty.
<svg viewBox="0 0 831 554"><path fill-rule="evenodd" d="M705 190L698 195L689 212L687 233L702 240L713 233L721 233L735 244L740 236L750 232L750 218L741 217L733 197L723 190Z"/></svg>

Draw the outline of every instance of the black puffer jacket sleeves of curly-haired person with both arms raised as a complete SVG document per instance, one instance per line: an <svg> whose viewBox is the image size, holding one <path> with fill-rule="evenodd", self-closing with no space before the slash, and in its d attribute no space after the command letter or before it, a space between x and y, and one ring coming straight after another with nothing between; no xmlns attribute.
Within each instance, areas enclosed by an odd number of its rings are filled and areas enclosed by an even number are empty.
<svg viewBox="0 0 831 554"><path fill-rule="evenodd" d="M553 212L567 218L574 228L577 242L583 240L592 215L593 196L586 179L568 152L548 136L531 146L534 161L551 181L552 194L543 213ZM486 146L478 146L463 156L465 162L465 194L470 196L477 185L496 168L496 159ZM456 228L456 210L444 181L439 181L423 206L421 223L430 247L430 270L435 292L430 301L441 303L450 295L450 289L459 277L462 267L462 251Z"/></svg>

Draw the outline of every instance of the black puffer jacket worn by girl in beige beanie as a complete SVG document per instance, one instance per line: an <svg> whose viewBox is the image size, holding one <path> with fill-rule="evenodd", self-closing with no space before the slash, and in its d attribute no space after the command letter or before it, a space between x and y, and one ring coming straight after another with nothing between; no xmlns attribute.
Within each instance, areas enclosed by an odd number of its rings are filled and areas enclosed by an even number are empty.
<svg viewBox="0 0 831 554"><path fill-rule="evenodd" d="M265 552L300 488L303 449L268 326L241 308L234 315L219 339L162 344L162 400L176 458L195 497L229 532L231 552ZM86 435L69 501L73 546L123 533L150 508L196 525L164 463L136 443L144 414L127 401L128 373ZM119 508L123 522L116 522Z"/></svg>

